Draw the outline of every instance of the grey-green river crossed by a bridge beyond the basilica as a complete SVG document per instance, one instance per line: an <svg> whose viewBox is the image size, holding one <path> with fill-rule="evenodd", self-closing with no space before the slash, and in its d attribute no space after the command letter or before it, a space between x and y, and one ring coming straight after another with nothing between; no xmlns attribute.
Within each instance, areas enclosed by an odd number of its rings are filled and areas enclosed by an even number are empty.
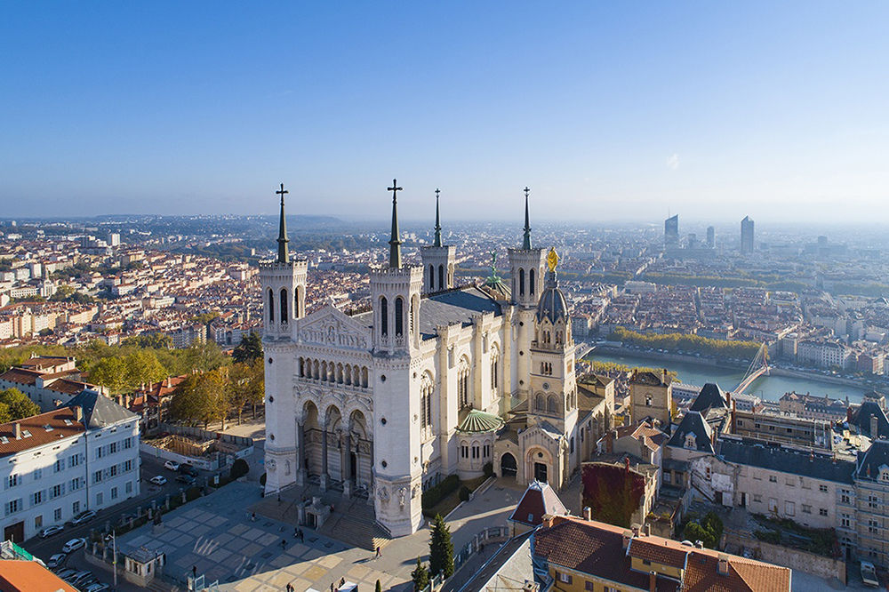
<svg viewBox="0 0 889 592"><path fill-rule="evenodd" d="M602 354L593 351L587 359L597 362L614 362L630 367L646 366L649 368L667 368L677 372L678 379L686 384L702 386L705 382L716 382L723 390L731 390L738 386L744 378L744 372L707 364L694 364L693 362L673 362L654 360L645 356L616 356ZM790 391L797 393L809 393L818 396L831 396L833 398L845 398L849 396L850 403L861 401L861 395L869 388L846 387L845 385L831 384L822 380L799 379L785 376L762 376L754 380L747 388L746 394L756 395L763 399L777 401L784 393Z"/></svg>

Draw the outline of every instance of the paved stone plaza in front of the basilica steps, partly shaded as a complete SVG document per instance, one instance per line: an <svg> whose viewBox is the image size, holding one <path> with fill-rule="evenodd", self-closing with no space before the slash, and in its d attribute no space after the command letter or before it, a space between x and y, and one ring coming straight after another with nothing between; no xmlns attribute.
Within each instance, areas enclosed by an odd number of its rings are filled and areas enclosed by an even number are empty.
<svg viewBox="0 0 889 592"><path fill-rule="evenodd" d="M524 490L496 481L449 517L454 548L477 533L506 525ZM411 572L417 557L428 561L428 529L392 540L380 558L360 548L303 529L305 541L293 537L293 527L265 516L252 521L247 508L260 500L255 483L232 483L164 515L160 528L150 524L119 537L122 549L144 546L166 554L165 576L184 582L192 566L220 590L257 592L284 590L291 583L298 592L330 589L345 578L371 592L376 580L383 589L412 589ZM282 540L285 541L282 547ZM469 578L466 573L456 577ZM180 588L185 588L180 583Z"/></svg>

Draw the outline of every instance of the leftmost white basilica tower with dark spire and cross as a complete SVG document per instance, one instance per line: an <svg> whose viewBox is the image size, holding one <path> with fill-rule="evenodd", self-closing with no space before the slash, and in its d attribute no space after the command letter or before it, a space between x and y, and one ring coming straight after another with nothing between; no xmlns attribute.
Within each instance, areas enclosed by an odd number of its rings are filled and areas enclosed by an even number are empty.
<svg viewBox="0 0 889 592"><path fill-rule="evenodd" d="M287 251L289 241L284 219L284 196L287 193L282 183L276 191L281 196L277 258L260 261L262 348L266 356L266 492L276 492L292 484L299 469L295 424L286 413L276 412L279 405L286 405L285 402L292 397L293 327L296 319L306 314L308 262L292 260ZM285 406L280 408L286 409Z"/></svg>

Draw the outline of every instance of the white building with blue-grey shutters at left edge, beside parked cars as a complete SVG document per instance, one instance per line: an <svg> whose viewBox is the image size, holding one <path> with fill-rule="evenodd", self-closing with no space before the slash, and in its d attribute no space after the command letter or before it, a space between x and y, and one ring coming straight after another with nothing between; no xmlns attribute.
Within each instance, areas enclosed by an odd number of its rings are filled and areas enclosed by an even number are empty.
<svg viewBox="0 0 889 592"><path fill-rule="evenodd" d="M139 416L95 391L0 425L4 540L138 495Z"/></svg>

